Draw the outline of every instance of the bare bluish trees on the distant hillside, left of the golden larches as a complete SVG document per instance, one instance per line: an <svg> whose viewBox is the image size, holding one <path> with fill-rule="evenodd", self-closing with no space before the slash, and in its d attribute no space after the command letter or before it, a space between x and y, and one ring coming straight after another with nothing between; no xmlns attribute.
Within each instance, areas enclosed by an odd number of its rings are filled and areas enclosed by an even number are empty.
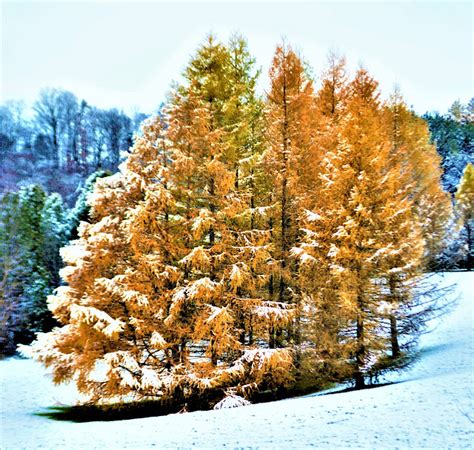
<svg viewBox="0 0 474 450"><path fill-rule="evenodd" d="M42 90L31 110L22 102L1 105L0 192L34 183L72 205L88 175L117 170L145 118L53 88Z"/></svg>

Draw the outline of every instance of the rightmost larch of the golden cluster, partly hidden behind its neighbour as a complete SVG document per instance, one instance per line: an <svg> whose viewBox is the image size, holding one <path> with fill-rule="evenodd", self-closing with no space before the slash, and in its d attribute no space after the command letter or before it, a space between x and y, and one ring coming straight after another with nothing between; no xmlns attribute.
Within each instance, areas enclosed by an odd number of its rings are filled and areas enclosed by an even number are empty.
<svg viewBox="0 0 474 450"><path fill-rule="evenodd" d="M410 266L403 272L392 270L389 276L393 300L404 305L390 317L392 359L401 360L406 359L410 344L416 342L427 320L448 306L440 301L442 290L438 290L430 275L424 272L440 266L449 244L452 206L449 194L441 187L440 158L430 143L424 120L406 107L398 90L391 96L384 113L388 120L392 165L398 168L399 188L412 205L413 221L420 227L424 247L418 267ZM404 349L400 349L400 333L415 338L411 342L405 338Z"/></svg>

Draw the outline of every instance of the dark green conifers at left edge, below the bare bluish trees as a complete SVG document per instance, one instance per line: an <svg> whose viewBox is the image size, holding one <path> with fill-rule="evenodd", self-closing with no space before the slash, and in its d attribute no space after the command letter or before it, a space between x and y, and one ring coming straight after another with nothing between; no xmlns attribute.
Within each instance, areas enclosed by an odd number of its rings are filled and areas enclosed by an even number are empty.
<svg viewBox="0 0 474 450"><path fill-rule="evenodd" d="M0 218L1 353L55 324L46 298L59 285L66 210L58 194L26 186L4 194Z"/></svg>

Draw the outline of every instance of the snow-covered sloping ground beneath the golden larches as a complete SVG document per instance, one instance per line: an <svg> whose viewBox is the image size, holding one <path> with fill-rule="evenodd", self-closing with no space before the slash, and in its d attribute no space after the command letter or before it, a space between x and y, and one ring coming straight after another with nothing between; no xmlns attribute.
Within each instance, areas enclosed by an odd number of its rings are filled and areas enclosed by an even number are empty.
<svg viewBox="0 0 474 450"><path fill-rule="evenodd" d="M472 447L474 273L457 282L456 309L423 336L423 357L399 383L333 395L114 422L73 423L35 415L70 403L31 360L0 361L2 449L189 447ZM433 324L434 325L434 324Z"/></svg>

